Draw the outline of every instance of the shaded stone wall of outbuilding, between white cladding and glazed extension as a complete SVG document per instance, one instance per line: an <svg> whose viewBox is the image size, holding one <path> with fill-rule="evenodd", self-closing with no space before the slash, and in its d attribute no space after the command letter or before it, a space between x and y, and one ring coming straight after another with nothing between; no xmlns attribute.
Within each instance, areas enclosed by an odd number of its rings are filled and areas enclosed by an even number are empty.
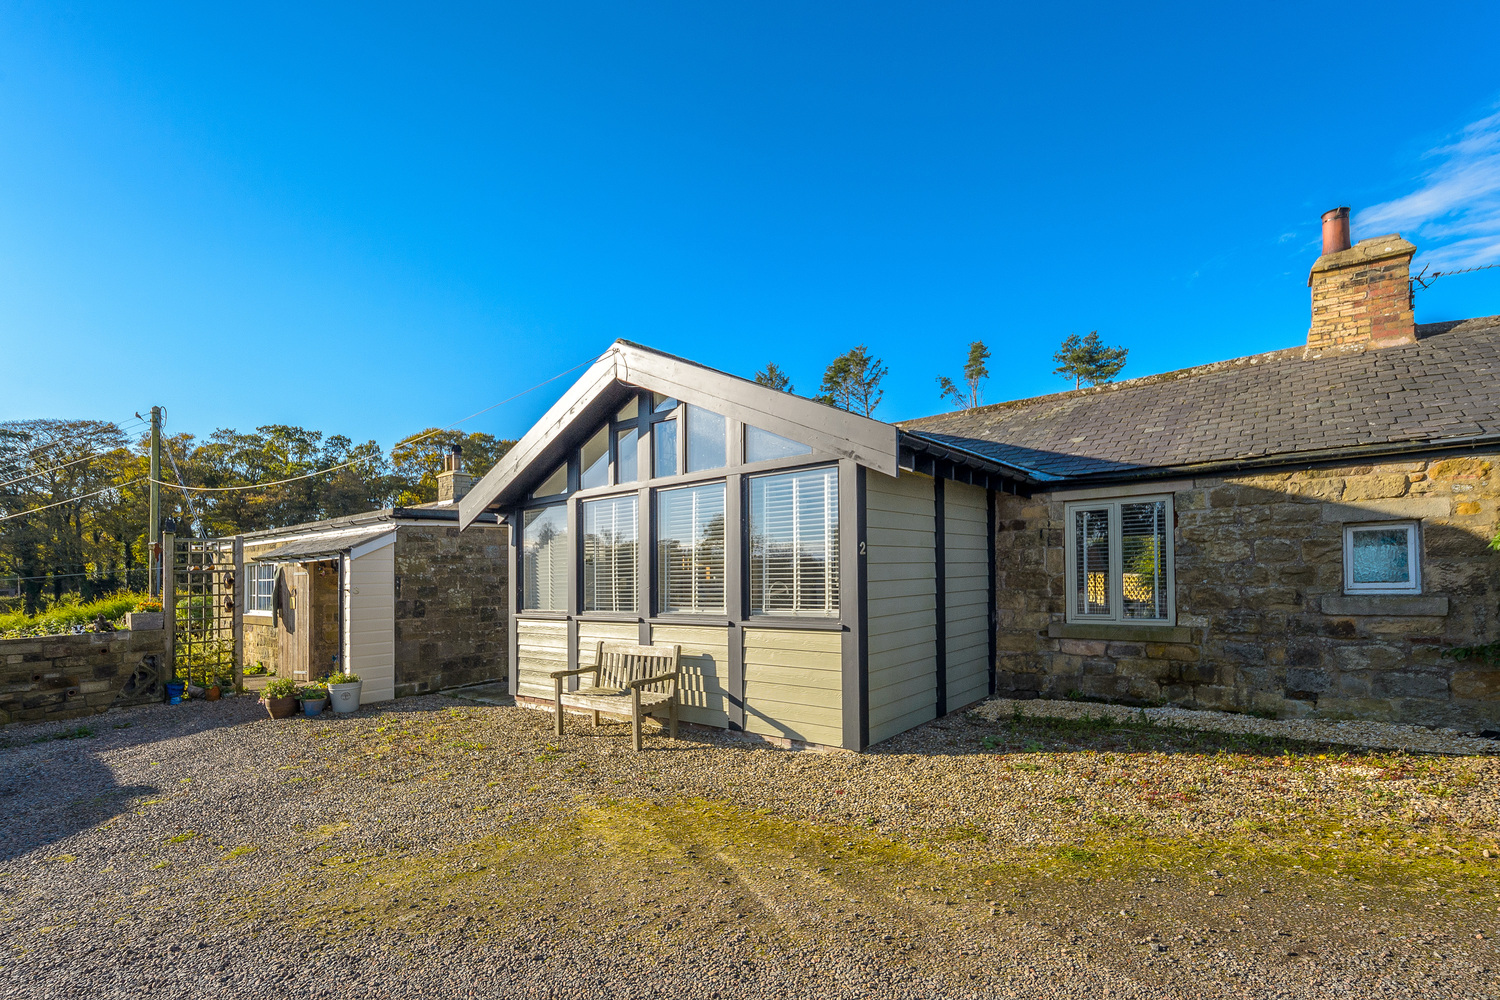
<svg viewBox="0 0 1500 1000"><path fill-rule="evenodd" d="M396 696L500 681L510 648L506 528L396 535Z"/></svg>

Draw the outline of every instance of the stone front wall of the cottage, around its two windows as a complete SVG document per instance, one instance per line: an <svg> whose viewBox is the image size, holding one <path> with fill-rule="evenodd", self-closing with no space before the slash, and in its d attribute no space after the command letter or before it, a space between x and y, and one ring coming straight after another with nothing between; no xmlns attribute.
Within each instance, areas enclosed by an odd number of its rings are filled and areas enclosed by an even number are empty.
<svg viewBox="0 0 1500 1000"><path fill-rule="evenodd" d="M1176 627L1070 625L1068 493L998 499L998 690L1500 729L1500 454L1164 484ZM1344 595L1344 525L1420 520L1422 595Z"/></svg>

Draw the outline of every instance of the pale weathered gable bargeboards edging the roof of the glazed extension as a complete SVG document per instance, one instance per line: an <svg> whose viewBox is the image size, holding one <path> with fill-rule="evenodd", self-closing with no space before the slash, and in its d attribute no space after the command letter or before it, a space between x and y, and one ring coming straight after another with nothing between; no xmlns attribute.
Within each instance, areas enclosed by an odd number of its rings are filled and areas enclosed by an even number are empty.
<svg viewBox="0 0 1500 1000"><path fill-rule="evenodd" d="M519 502L532 475L561 462L578 433L592 430L618 406L628 388L644 388L712 409L732 420L801 441L822 454L852 459L866 468L897 475L897 430L870 417L782 393L748 379L615 340L562 399L538 420L459 502L459 526L466 528L492 505ZM574 424L586 423L585 430Z"/></svg>

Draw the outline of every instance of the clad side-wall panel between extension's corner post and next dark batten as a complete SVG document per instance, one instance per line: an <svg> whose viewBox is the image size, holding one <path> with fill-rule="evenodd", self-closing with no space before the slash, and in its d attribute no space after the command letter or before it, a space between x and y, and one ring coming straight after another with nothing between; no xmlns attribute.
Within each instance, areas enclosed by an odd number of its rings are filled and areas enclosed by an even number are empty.
<svg viewBox="0 0 1500 1000"><path fill-rule="evenodd" d="M938 714L933 498L924 475L866 475L872 744Z"/></svg>

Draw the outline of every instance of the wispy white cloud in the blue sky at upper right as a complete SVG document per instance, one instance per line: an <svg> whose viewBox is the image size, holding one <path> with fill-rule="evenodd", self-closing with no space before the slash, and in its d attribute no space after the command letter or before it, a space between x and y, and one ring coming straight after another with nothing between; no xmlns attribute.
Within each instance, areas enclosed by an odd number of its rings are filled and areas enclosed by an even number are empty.
<svg viewBox="0 0 1500 1000"><path fill-rule="evenodd" d="M1418 237L1422 262L1455 270L1500 262L1500 112L1428 150L1420 186L1354 216L1359 234Z"/></svg>

